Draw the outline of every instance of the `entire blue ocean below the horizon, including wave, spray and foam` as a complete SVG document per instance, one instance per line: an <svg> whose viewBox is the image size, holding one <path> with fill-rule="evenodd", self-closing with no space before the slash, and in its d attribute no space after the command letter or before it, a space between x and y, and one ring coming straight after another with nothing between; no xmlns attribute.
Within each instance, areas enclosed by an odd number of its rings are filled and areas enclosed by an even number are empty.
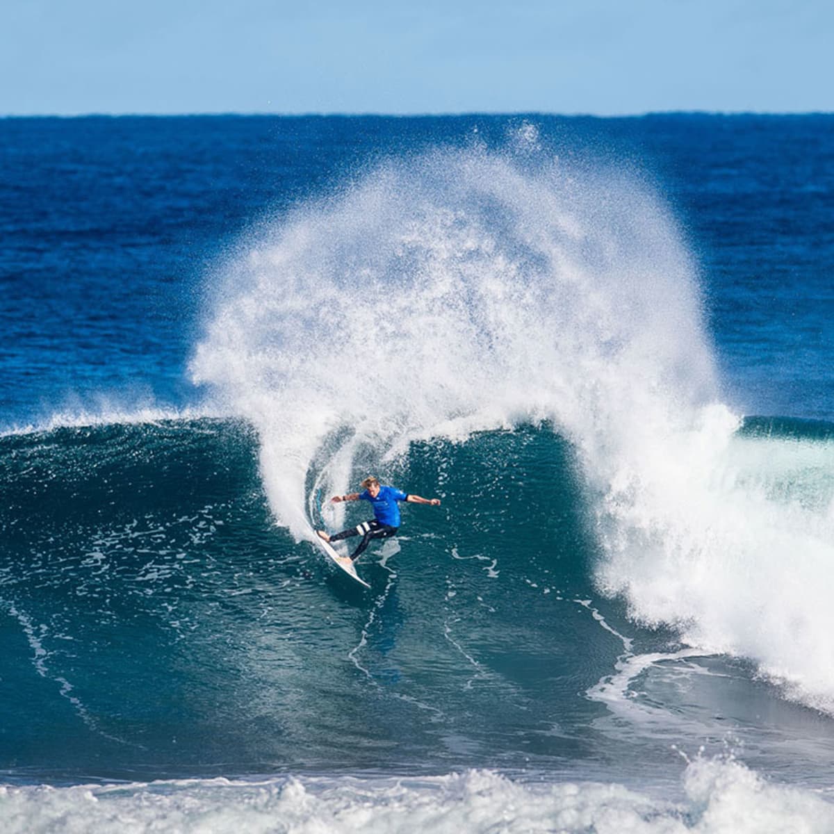
<svg viewBox="0 0 834 834"><path fill-rule="evenodd" d="M832 217L828 115L0 119L0 829L834 831Z"/></svg>

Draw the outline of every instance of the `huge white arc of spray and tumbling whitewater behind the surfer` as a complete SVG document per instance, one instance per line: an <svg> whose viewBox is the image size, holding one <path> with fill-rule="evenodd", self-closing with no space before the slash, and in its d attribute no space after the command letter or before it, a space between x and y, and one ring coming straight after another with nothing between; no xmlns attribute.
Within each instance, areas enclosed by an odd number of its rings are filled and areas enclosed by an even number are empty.
<svg viewBox="0 0 834 834"><path fill-rule="evenodd" d="M299 209L232 260L194 379L256 426L299 539L311 479L344 492L415 440L548 421L596 496L598 585L834 709L829 447L812 499L745 472L756 444L730 447L740 421L666 209L535 141L391 162Z"/></svg>

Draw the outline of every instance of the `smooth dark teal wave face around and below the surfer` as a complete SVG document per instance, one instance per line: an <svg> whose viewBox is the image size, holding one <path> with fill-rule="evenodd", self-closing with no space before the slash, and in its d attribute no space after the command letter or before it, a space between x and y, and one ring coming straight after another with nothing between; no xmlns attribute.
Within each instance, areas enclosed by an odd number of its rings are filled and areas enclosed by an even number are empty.
<svg viewBox="0 0 834 834"><path fill-rule="evenodd" d="M826 431L749 421L734 488L819 495ZM673 746L727 742L805 786L830 776L830 721L600 597L600 496L549 425L409 445L391 473L438 481L444 506L404 510L360 564L367 592L276 528L259 444L211 419L0 438L7 779L479 767L668 785Z"/></svg>

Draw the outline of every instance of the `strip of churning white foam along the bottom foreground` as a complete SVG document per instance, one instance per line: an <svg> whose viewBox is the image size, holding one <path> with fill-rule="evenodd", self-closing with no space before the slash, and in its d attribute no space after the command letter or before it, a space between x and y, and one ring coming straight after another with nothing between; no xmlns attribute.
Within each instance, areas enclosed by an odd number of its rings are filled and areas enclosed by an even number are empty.
<svg viewBox="0 0 834 834"><path fill-rule="evenodd" d="M617 784L514 781L495 771L353 779L226 779L0 788L8 834L47 831L238 831L397 834L564 831L595 834L782 834L831 831L834 807L763 781L735 761L693 761L681 799Z"/></svg>

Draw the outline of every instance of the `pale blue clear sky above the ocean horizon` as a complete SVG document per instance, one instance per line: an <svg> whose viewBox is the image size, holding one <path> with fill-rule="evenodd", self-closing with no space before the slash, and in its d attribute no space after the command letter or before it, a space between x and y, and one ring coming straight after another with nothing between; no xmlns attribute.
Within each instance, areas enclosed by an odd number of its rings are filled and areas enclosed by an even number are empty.
<svg viewBox="0 0 834 834"><path fill-rule="evenodd" d="M2 0L0 113L834 111L834 0Z"/></svg>

